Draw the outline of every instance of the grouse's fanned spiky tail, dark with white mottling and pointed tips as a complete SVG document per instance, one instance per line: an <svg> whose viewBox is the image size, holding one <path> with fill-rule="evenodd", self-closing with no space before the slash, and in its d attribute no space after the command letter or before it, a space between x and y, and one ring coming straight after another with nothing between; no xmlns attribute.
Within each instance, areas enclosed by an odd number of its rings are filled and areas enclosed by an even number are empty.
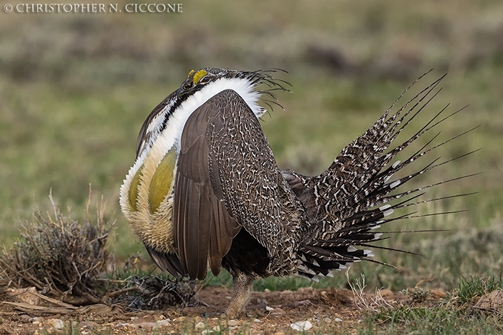
<svg viewBox="0 0 503 335"><path fill-rule="evenodd" d="M404 128L439 94L442 89L437 89L437 86L444 77L445 75L432 82L432 84L416 94L414 98L407 101L399 110L392 113L391 110L396 103L418 80L412 83L377 122L345 147L335 158L332 165L319 176L306 177L291 170L283 172L284 177L289 181L289 185L305 205L312 228L312 234L303 242L298 251L297 262L300 276L317 280L318 276L332 276L332 270L345 269L347 263L369 260L368 257L372 256L372 252L358 249L356 246L384 248L369 244L382 239L381 233L373 230L391 221L432 215L414 215L413 212L388 218L395 209L462 196L452 195L444 198L417 200L418 197L424 194L421 191L426 188L471 177L473 174L428 184L408 191L400 190L403 189L402 187L407 181L414 177L472 154L476 150L441 163L438 162L440 158L438 157L406 177L391 180L393 174L407 165L476 128L455 135L439 144L432 144L439 135L437 133L421 149L411 154L409 158L403 162L395 161L390 165L393 158L407 148L409 144L464 109L463 107L444 116L444 112L449 106L446 105L408 140L391 147L393 141ZM388 150L388 148L391 149ZM398 190L398 193L393 192L395 190ZM393 200L403 197L407 197L407 200L393 204ZM392 202L392 204L388 204L388 202ZM394 248L387 249L401 251ZM372 261L379 262L377 260Z"/></svg>

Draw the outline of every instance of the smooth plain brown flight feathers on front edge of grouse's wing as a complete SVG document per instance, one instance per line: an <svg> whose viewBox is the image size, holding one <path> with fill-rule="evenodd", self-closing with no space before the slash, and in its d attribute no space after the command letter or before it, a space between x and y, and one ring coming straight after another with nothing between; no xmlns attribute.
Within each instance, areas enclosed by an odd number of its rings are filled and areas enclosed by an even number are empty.
<svg viewBox="0 0 503 335"><path fill-rule="evenodd" d="M219 274L221 258L240 230L212 189L206 140L211 104L212 99L194 111L184 126L173 206L180 265L191 278L198 279L205 278L208 261L212 272Z"/></svg>

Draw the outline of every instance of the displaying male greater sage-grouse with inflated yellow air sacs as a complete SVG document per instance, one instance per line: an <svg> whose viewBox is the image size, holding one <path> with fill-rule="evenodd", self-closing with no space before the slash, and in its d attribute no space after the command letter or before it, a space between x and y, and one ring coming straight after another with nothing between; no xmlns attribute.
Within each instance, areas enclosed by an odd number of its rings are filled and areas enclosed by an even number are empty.
<svg viewBox="0 0 503 335"><path fill-rule="evenodd" d="M287 84L270 73L192 70L145 120L136 162L120 192L133 232L161 269L192 279L205 278L208 267L214 275L221 267L231 272L234 290L226 312L231 318L242 311L256 278L317 280L371 257L370 250L357 247L379 241L376 228L410 216L389 218L395 209L434 200L414 199L421 190L445 182L395 191L447 163L437 160L392 179L450 141L429 146L430 140L403 162L393 160L449 117L440 117L445 109L391 147L437 94L442 77L391 112L398 98L325 172L307 177L279 170L258 122L267 112L258 105L261 96L274 98L273 91L285 90ZM407 200L388 204L407 195Z"/></svg>

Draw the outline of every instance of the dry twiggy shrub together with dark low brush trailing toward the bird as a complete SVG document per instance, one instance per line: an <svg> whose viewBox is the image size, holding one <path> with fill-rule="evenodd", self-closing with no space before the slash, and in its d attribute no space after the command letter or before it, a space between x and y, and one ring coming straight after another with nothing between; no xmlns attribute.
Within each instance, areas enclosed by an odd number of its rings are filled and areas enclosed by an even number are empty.
<svg viewBox="0 0 503 335"><path fill-rule="evenodd" d="M89 195L82 222L73 220L69 210L63 214L52 196L50 200L54 216L36 211L35 220L24 226L22 239L12 248L3 248L2 301L8 299L6 288L14 292L29 288L33 295L73 306L104 303L121 304L126 310L144 310L197 303L193 282L152 274L142 276L127 266L126 271L117 271L119 267L109 261L105 248L114 222L104 218L103 198L93 220L89 215Z"/></svg>

